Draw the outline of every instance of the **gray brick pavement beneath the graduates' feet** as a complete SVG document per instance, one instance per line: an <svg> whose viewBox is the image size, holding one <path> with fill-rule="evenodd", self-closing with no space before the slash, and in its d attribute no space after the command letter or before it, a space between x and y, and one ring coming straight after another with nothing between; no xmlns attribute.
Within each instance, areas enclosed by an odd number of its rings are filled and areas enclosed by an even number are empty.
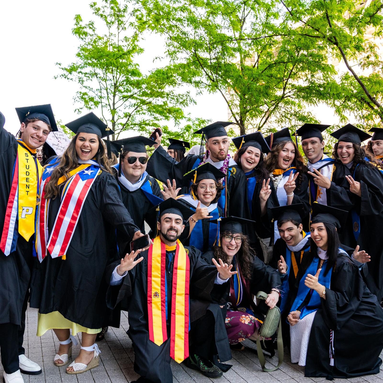
<svg viewBox="0 0 383 383"><path fill-rule="evenodd" d="M24 338L26 355L38 362L43 368L43 373L37 376L23 375L25 383L125 383L138 378L133 371L134 354L132 342L126 335L128 329L127 313L121 315L121 327L115 329L110 327L105 334L105 340L98 342L101 350L101 363L97 368L78 375L68 375L66 367L56 367L53 363L56 350L59 348L57 338L52 331L46 332L42 337L36 336L37 310L28 308L27 325ZM80 340L80 339L79 339ZM179 383L309 383L324 381L325 378L305 378L303 367L290 362L290 355L285 349L285 360L279 370L274 372L262 372L255 345L246 340L245 350L242 352L233 351L232 360L228 363L233 367L221 378L209 379L198 371L190 370L183 364L172 362L173 381ZM73 347L73 357L79 353L80 344ZM363 350L350 350L350 352L363 352ZM382 353L383 354L383 353ZM381 355L383 357L383 355ZM277 356L267 358L271 365L277 365ZM3 375L0 365L0 376ZM335 379L334 382L383 382L383 368L378 375L367 375L352 379Z"/></svg>

